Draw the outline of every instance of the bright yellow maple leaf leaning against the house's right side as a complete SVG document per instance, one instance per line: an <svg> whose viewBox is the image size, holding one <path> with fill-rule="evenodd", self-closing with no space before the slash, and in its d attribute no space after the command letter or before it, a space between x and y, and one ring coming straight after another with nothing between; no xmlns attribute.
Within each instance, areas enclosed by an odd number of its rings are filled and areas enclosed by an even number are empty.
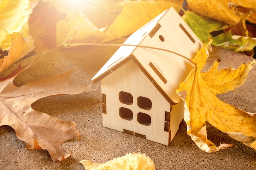
<svg viewBox="0 0 256 170"><path fill-rule="evenodd" d="M187 124L187 134L205 152L216 152L233 146L221 144L216 147L208 140L207 121L232 138L256 149L256 116L216 97L217 94L234 91L236 87L244 84L256 61L242 64L237 69L227 68L218 71L220 60L216 60L208 72L202 73L206 60L207 50L203 47L193 58L197 66L191 70L177 90L177 94L185 101L184 120Z"/></svg>

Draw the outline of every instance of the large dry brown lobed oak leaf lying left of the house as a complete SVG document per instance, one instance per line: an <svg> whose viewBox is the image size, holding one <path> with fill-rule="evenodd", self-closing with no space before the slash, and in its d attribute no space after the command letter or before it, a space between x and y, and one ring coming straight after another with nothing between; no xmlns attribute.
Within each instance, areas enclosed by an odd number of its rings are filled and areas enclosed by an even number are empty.
<svg viewBox="0 0 256 170"><path fill-rule="evenodd" d="M73 70L17 87L13 79L24 69L19 66L11 75L0 79L0 126L11 126L18 139L26 142L27 150L45 149L52 160L63 161L70 154L61 144L80 137L76 124L33 110L31 104L42 97L79 94L92 88L73 84L70 81Z"/></svg>

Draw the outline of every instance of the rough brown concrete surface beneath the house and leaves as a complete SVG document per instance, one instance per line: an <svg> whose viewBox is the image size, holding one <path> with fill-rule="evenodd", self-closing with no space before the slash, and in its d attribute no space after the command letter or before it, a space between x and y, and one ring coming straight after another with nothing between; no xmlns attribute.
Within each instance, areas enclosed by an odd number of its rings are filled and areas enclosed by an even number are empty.
<svg viewBox="0 0 256 170"><path fill-rule="evenodd" d="M112 43L122 43L124 39ZM14 83L22 86L36 79L57 75L76 67L72 81L78 84L92 84L90 79L112 56L118 47L79 47L48 51L30 68L20 73ZM31 58L22 62L31 61ZM222 59L222 67L249 62L252 58L218 47L213 48L209 63L215 58ZM13 69L15 65L9 68ZM208 64L209 67L209 64ZM8 73L5 71L4 73ZM249 73L247 82L235 92L219 95L225 102L246 111L256 113L256 67ZM32 104L42 111L65 121L74 121L81 132L81 140L72 139L62 146L72 152L65 161L52 161L46 150L25 150L9 126L0 127L0 170L84 170L79 163L82 159L104 163L121 157L128 152L146 153L155 162L157 170L253 170L256 169L256 151L230 138L225 133L208 125L208 138L217 146L220 143L235 144L236 147L205 153L186 135L186 124L174 137L171 146L164 146L146 139L104 128L101 121L101 86L97 90L78 94L46 97Z"/></svg>

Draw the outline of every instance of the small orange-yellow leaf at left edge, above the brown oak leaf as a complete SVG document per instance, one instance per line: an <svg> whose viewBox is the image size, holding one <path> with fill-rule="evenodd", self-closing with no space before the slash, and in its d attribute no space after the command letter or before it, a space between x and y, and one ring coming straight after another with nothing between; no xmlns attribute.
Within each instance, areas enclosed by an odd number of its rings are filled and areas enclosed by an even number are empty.
<svg viewBox="0 0 256 170"><path fill-rule="evenodd" d="M11 46L7 56L0 59L0 72L20 60L34 49L34 40L31 36L24 39L20 33L10 35Z"/></svg>

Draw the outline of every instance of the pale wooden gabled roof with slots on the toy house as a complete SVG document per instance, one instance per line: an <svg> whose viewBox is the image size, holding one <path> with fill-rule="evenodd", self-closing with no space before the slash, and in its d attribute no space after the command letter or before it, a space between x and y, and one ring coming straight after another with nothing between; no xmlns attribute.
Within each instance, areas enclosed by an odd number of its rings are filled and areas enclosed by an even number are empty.
<svg viewBox="0 0 256 170"><path fill-rule="evenodd" d="M202 47L200 40L173 8L167 9L130 35L124 44L167 49L187 58L194 57L196 49ZM137 64L169 103L180 102L176 89L186 79L192 67L188 60L166 51L121 46L92 81L98 82L129 60Z"/></svg>

